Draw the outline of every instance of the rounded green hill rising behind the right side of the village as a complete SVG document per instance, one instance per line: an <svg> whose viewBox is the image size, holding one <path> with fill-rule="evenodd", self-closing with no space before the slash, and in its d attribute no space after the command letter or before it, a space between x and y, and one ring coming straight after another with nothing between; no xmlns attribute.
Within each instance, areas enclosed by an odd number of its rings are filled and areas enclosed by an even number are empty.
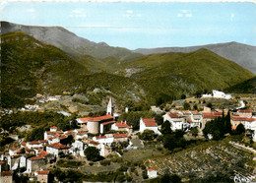
<svg viewBox="0 0 256 183"><path fill-rule="evenodd" d="M142 69L132 78L152 94L224 90L253 77L249 71L207 49L153 54L126 67Z"/></svg>

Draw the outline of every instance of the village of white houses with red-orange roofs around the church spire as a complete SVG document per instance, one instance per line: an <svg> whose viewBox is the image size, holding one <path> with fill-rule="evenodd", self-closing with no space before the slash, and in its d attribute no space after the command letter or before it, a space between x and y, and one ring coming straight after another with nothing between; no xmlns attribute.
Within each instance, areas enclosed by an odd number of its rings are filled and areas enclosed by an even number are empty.
<svg viewBox="0 0 256 183"><path fill-rule="evenodd" d="M58 96L60 97L60 96ZM232 99L230 94L225 94L222 91L213 91L211 94L204 94L204 98L222 98L226 100ZM57 100L57 98L50 98ZM43 101L47 102L47 101ZM27 105L27 109L36 110L37 105ZM27 110L23 108L22 110ZM171 132L183 131L184 136L195 139L212 140L213 135L204 136L203 130L208 122L230 115L231 129L234 131L240 124L245 129L245 134L256 142L256 111L255 106L246 108L242 100L239 101L239 106L230 109L228 107L219 109L211 106L204 106L202 110L192 108L185 109L170 107L167 111L160 107L152 106L152 111L158 113L162 117L163 123L158 124L155 118L140 117L139 129L135 130L129 121L120 120L119 114L113 111L112 98L109 98L106 106L105 115L96 117L79 117L76 119L79 128L63 131L56 126L51 126L49 131L45 131L43 139L25 142L24 139L17 135L10 135L15 140L15 146L11 146L8 150L0 152L0 171L2 182L12 182L14 179L14 171L19 170L19 175L27 176L31 181L51 182L57 181L56 177L50 176L50 169L56 167L61 159L67 159L72 156L73 159L86 159L87 164L94 164L98 159L108 159L109 156L117 156L122 158L123 152L134 150L143 150L148 145L148 141L141 138L143 135L153 134L154 139L158 139L163 133L163 124L168 123ZM128 112L128 108L125 109ZM12 113L12 111L5 111ZM24 126L23 128L27 128ZM28 127L30 128L30 127ZM192 129L197 129L196 135L192 137ZM1 132L6 133L6 132ZM147 136L148 137L148 136ZM158 144L158 143L157 143ZM163 147L162 144L155 144L156 149ZM89 158L89 150L97 150L99 156L97 160ZM222 145L216 149L222 149ZM213 149L213 152L218 151ZM235 148L234 148L235 149ZM224 151L224 149L222 149ZM210 151L210 152L209 152ZM208 150L211 155L212 150ZM255 151L255 149L252 151ZM199 153L194 151L194 153ZM186 154L191 156L190 152ZM180 173L180 168L183 165L177 164L177 159L184 159L186 156L166 157L171 164L176 163L171 168L171 172ZM202 157L204 158L204 157ZM226 157L227 158L227 157ZM100 161L100 162L101 162ZM94 162L94 163L92 163ZM160 168L160 162L149 158L144 161L144 166L141 172L143 179L153 179L162 175L164 167ZM110 162L109 162L110 163ZM182 163L182 162L180 162ZM159 164L159 165L158 165ZM102 164L94 164L93 166L102 166ZM201 169L203 168L200 167ZM21 171L23 169L23 171ZM183 167L182 171L186 172ZM17 175L16 175L17 176Z"/></svg>

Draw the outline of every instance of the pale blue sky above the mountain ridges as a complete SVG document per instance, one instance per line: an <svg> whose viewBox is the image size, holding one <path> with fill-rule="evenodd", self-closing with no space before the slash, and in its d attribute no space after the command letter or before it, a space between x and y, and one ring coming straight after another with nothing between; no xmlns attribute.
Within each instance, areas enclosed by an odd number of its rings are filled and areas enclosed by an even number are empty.
<svg viewBox="0 0 256 183"><path fill-rule="evenodd" d="M193 46L236 41L256 46L250 2L6 2L1 20L60 26L111 46Z"/></svg>

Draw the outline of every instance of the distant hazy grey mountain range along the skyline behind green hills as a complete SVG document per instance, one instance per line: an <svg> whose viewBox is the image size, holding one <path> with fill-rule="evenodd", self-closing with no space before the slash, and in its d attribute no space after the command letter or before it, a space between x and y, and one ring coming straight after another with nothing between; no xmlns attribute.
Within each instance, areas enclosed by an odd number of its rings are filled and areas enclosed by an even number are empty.
<svg viewBox="0 0 256 183"><path fill-rule="evenodd" d="M97 59L115 57L121 61L133 61L148 54L170 52L188 53L201 48L206 48L256 74L256 46L238 42L189 47L139 48L136 50L129 50L122 47L109 46L105 42L96 43L90 41L61 27L35 27L1 22L2 33L8 33L15 30L24 31L41 42L60 48L71 56L91 55Z"/></svg>

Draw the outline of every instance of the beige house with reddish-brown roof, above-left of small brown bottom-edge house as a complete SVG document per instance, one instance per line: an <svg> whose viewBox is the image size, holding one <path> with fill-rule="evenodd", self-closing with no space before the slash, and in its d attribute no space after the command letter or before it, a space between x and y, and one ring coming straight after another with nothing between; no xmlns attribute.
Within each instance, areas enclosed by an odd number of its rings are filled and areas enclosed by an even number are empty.
<svg viewBox="0 0 256 183"><path fill-rule="evenodd" d="M46 159L44 156L33 156L27 160L27 172L34 173L40 170L43 166L46 165Z"/></svg>

